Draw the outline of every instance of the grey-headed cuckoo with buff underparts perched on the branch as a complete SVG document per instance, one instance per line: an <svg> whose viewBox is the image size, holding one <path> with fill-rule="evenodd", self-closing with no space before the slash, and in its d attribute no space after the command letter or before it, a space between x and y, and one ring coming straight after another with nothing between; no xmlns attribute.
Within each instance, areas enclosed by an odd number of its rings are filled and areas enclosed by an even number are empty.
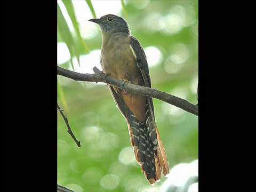
<svg viewBox="0 0 256 192"><path fill-rule="evenodd" d="M103 73L121 80L122 84L129 82L151 87L145 52L131 35L125 19L107 14L89 21L97 23L101 29L100 63ZM169 173L169 163L156 126L153 99L113 85L107 86L127 122L135 159L148 182L154 185L161 179L161 173L165 176Z"/></svg>

